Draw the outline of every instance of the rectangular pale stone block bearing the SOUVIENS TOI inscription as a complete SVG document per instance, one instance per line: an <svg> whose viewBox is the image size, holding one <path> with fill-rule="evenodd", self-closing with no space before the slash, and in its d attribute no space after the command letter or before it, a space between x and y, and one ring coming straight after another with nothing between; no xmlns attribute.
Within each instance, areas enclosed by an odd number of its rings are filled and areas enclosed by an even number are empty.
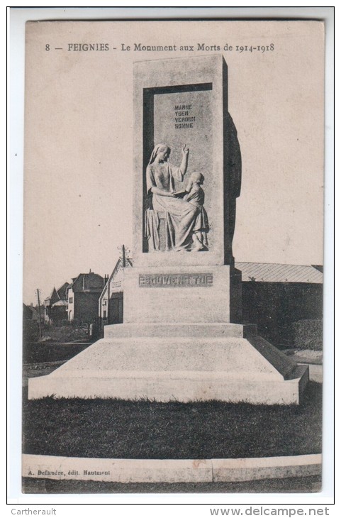
<svg viewBox="0 0 341 518"><path fill-rule="evenodd" d="M241 272L232 266L130 268L124 321L186 324L241 321Z"/></svg>

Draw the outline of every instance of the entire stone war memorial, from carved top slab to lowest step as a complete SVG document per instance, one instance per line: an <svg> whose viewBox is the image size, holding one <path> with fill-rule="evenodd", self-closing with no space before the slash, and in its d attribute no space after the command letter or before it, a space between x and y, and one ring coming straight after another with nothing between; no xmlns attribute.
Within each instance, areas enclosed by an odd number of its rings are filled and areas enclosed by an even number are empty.
<svg viewBox="0 0 341 518"><path fill-rule="evenodd" d="M28 397L298 404L308 368L242 324L232 249L241 158L225 60L136 63L134 112L123 324L30 380Z"/></svg>

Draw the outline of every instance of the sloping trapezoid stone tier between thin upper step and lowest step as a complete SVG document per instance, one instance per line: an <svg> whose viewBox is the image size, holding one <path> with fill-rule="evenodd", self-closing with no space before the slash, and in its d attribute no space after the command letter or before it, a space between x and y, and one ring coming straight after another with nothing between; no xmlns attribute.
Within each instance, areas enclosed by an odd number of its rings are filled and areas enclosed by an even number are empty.
<svg viewBox="0 0 341 518"><path fill-rule="evenodd" d="M296 363L261 337L103 338L55 371L224 371L284 380Z"/></svg>

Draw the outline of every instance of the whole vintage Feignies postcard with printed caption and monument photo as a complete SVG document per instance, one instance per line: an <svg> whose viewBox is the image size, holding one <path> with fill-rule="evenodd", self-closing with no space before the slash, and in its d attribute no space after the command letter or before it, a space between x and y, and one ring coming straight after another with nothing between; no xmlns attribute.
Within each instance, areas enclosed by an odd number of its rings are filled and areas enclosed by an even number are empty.
<svg viewBox="0 0 341 518"><path fill-rule="evenodd" d="M321 490L324 42L26 23L24 493Z"/></svg>

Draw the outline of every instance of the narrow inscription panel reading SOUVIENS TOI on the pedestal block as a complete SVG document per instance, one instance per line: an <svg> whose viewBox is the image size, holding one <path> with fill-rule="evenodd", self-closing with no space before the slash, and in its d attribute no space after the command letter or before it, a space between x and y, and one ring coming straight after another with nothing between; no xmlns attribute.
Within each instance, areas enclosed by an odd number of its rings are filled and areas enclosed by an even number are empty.
<svg viewBox="0 0 341 518"><path fill-rule="evenodd" d="M212 273L170 273L140 274L140 288L172 288L172 287L210 287L213 286Z"/></svg>

